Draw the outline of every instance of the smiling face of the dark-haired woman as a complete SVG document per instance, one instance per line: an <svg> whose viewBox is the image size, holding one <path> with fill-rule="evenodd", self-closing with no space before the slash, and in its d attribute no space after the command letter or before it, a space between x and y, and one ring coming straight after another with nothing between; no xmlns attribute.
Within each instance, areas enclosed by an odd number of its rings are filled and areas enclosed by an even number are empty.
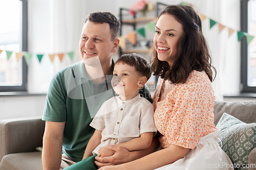
<svg viewBox="0 0 256 170"><path fill-rule="evenodd" d="M157 21L154 45L160 61L172 65L177 59L178 42L184 34L181 23L173 15L163 14Z"/></svg>

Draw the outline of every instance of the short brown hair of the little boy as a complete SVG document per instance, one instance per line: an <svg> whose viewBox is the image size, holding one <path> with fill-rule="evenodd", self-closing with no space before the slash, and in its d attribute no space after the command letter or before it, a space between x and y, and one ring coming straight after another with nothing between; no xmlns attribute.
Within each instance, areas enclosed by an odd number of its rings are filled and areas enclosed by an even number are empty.
<svg viewBox="0 0 256 170"><path fill-rule="evenodd" d="M141 57L139 54L130 53L122 55L118 60L116 60L115 65L118 63L127 64L135 67L135 70L141 75L145 76L146 80L150 79L152 70L150 64ZM114 65L114 66L115 66Z"/></svg>

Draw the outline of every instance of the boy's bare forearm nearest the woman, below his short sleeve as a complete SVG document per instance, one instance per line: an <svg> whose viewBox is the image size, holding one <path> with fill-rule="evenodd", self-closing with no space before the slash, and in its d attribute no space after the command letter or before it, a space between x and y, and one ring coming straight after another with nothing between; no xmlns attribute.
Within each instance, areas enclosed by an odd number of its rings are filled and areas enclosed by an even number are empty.
<svg viewBox="0 0 256 170"><path fill-rule="evenodd" d="M129 141L118 143L119 147L123 147L128 151L137 151L137 150L144 150L150 147L152 139L153 139L153 132L146 132L140 134L140 137L131 139Z"/></svg>

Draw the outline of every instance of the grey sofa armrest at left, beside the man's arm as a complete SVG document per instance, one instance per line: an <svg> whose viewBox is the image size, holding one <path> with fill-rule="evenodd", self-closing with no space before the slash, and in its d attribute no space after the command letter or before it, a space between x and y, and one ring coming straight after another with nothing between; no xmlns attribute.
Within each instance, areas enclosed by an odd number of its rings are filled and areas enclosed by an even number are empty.
<svg viewBox="0 0 256 170"><path fill-rule="evenodd" d="M0 162L5 155L34 152L42 146L45 121L41 117L0 121Z"/></svg>

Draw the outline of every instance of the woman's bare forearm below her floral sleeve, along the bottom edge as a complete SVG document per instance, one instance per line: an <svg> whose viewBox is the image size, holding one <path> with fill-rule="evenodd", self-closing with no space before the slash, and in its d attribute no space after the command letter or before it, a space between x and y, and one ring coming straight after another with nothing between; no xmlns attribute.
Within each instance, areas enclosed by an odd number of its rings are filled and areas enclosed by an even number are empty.
<svg viewBox="0 0 256 170"><path fill-rule="evenodd" d="M154 152L150 155L142 157L132 162L116 165L116 166L103 166L99 170L114 170L114 169L140 169L150 170L158 167L173 163L183 158L189 149L179 147L178 145L170 144L168 148ZM168 158L168 159L166 159Z"/></svg>

